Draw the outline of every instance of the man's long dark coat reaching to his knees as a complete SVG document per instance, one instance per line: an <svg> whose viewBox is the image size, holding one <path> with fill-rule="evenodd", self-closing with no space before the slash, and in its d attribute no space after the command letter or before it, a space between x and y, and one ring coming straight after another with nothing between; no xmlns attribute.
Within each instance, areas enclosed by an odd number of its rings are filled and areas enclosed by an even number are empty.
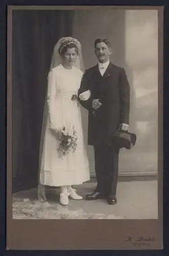
<svg viewBox="0 0 169 256"><path fill-rule="evenodd" d="M118 130L120 123L129 124L130 87L123 68L111 62L104 73L100 74L98 65L86 70L81 81L78 94L90 90L87 101L79 100L89 111L88 144L111 144L113 132ZM92 99L104 97L102 106L93 115Z"/></svg>

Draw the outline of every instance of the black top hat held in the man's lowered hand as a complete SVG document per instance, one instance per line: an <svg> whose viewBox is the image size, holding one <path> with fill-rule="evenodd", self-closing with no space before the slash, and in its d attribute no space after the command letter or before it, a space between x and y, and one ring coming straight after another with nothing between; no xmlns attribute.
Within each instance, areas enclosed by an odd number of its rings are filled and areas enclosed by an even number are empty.
<svg viewBox="0 0 169 256"><path fill-rule="evenodd" d="M136 142L136 135L118 130L112 134L112 144L116 145L118 148L125 147L127 150L130 150Z"/></svg>

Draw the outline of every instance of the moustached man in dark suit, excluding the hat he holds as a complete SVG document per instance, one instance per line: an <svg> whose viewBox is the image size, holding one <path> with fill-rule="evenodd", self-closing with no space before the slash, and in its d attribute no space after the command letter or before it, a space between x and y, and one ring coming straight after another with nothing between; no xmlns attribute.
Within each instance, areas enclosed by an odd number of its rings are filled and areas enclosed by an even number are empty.
<svg viewBox="0 0 169 256"><path fill-rule="evenodd" d="M95 55L98 64L83 75L79 89L79 101L89 111L88 145L94 147L97 185L86 200L105 198L108 204L116 204L119 150L111 143L113 132L128 131L130 113L130 87L123 68L110 60L111 43L107 39L96 39ZM80 94L90 90L87 101Z"/></svg>

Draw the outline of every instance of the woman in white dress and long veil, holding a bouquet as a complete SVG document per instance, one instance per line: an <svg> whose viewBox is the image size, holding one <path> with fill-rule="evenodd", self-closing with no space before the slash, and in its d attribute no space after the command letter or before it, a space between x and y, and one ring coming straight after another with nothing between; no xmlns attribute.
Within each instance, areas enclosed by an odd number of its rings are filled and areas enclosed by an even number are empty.
<svg viewBox="0 0 169 256"><path fill-rule="evenodd" d="M48 76L38 193L40 199L46 200L44 186L59 186L62 205L67 205L69 198L82 199L73 185L90 179L77 98L82 70L80 42L72 37L60 38Z"/></svg>

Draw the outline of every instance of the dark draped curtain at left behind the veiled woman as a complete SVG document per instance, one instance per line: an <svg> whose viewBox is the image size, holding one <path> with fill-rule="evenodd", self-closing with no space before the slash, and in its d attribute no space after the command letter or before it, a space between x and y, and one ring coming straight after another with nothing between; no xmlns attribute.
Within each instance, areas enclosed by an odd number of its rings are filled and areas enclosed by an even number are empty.
<svg viewBox="0 0 169 256"><path fill-rule="evenodd" d="M74 11L13 11L12 190L37 186L47 74L57 40L72 35Z"/></svg>

